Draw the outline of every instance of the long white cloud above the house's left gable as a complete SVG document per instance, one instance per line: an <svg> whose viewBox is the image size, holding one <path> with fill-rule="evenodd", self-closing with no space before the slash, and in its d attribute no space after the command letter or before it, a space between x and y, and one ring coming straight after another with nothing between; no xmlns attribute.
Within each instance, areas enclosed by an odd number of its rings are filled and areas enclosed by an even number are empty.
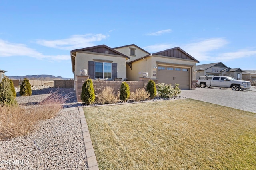
<svg viewBox="0 0 256 170"><path fill-rule="evenodd" d="M70 38L67 39L38 40L36 41L36 43L56 49L73 50L94 46L95 44L93 42L101 41L102 39L106 39L107 37L108 36L103 34L72 35Z"/></svg>

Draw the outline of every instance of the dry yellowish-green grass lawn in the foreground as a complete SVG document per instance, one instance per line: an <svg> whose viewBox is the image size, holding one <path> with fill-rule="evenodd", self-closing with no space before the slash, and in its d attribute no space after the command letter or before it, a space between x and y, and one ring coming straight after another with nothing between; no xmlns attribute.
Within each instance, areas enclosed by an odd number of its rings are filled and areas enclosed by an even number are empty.
<svg viewBox="0 0 256 170"><path fill-rule="evenodd" d="M256 114L191 99L84 113L100 169L255 169Z"/></svg>

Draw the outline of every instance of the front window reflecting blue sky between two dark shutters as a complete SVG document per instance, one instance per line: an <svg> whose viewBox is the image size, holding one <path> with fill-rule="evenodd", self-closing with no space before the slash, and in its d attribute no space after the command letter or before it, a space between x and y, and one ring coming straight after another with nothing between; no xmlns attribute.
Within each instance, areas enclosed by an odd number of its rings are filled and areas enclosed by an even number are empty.
<svg viewBox="0 0 256 170"><path fill-rule="evenodd" d="M112 63L95 62L95 78L111 78Z"/></svg>

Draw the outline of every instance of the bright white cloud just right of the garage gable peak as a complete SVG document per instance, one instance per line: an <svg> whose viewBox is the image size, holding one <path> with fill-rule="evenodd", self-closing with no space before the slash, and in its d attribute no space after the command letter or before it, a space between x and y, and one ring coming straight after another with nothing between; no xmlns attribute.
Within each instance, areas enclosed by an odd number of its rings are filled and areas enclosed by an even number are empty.
<svg viewBox="0 0 256 170"><path fill-rule="evenodd" d="M196 43L182 45L182 49L193 56L198 61L215 60L216 56L211 56L210 52L220 49L228 44L224 38L205 39Z"/></svg>

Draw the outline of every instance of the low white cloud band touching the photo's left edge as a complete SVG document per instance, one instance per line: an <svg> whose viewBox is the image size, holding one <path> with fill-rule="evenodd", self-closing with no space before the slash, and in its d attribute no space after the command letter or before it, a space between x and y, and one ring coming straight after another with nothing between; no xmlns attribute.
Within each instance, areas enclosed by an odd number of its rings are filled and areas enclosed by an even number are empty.
<svg viewBox="0 0 256 170"><path fill-rule="evenodd" d="M24 44L10 43L0 39L0 57L28 56L37 59L68 60L70 55L43 55Z"/></svg>

